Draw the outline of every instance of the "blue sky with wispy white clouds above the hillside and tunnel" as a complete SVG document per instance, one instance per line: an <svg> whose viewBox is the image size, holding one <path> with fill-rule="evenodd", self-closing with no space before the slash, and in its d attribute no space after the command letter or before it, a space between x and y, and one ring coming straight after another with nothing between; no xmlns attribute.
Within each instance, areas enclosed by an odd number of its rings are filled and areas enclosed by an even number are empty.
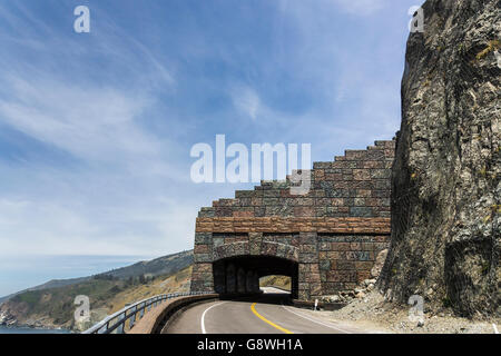
<svg viewBox="0 0 501 356"><path fill-rule="evenodd" d="M191 181L218 134L313 161L392 139L422 2L0 0L0 296L190 249L253 187Z"/></svg>

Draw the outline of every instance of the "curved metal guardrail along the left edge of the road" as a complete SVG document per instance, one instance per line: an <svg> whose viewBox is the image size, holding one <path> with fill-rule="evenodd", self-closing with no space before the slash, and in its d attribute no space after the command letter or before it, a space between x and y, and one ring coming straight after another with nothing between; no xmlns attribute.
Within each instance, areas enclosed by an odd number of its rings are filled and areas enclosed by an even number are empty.
<svg viewBox="0 0 501 356"><path fill-rule="evenodd" d="M126 306L125 308L114 313L112 315L106 317L95 326L85 330L81 334L125 334L126 327L127 330L130 330L137 320L140 320L145 315L145 310L149 312L151 308L160 305L165 300L177 298L177 297L186 297L186 296L199 296L210 294L208 291L194 291L194 293L173 293L173 294L163 294L151 298L147 298L140 301L137 301L132 305ZM129 322L127 324L127 322Z"/></svg>

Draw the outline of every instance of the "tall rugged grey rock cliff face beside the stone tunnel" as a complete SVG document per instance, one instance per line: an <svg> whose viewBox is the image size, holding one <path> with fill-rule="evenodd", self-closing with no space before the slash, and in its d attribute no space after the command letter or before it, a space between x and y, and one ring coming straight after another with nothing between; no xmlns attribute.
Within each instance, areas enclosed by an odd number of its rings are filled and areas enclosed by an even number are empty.
<svg viewBox="0 0 501 356"><path fill-rule="evenodd" d="M428 0L411 33L379 287L459 314L499 314L499 0Z"/></svg>

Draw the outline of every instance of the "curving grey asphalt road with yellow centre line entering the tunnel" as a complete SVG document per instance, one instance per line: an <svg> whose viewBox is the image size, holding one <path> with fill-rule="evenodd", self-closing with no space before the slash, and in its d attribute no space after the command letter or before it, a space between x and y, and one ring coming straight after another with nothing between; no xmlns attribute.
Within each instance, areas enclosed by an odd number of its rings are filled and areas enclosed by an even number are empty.
<svg viewBox="0 0 501 356"><path fill-rule="evenodd" d="M262 288L256 299L216 300L190 307L165 334L355 334L286 305L288 294Z"/></svg>

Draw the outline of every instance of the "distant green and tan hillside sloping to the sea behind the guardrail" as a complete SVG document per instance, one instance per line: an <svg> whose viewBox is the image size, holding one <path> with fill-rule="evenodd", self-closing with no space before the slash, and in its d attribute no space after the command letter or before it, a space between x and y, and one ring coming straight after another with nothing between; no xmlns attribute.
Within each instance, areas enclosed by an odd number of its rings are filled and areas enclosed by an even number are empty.
<svg viewBox="0 0 501 356"><path fill-rule="evenodd" d="M82 329L122 308L126 303L157 294L188 290L191 263L191 251L184 251L79 278L81 280L55 288L32 288L0 306L0 325ZM89 325L75 325L73 300L78 295L90 299Z"/></svg>

